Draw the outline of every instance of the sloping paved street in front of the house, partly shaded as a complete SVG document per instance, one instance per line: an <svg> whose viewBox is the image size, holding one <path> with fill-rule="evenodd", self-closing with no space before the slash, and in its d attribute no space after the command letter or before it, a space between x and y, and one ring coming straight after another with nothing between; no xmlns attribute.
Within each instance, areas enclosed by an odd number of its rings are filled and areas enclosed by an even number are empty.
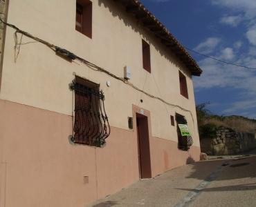
<svg viewBox="0 0 256 207"><path fill-rule="evenodd" d="M256 155L199 161L138 181L88 207L256 206Z"/></svg>

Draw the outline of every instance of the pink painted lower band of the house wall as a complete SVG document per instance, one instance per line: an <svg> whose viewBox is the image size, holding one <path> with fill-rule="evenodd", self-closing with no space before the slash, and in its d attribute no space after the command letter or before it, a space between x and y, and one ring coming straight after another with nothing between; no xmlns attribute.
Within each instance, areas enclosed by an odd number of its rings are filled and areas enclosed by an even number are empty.
<svg viewBox="0 0 256 207"><path fill-rule="evenodd" d="M104 148L71 144L71 133L70 116L0 100L0 207L84 206L139 179L136 131L111 127ZM156 137L150 150L153 176L200 154Z"/></svg>

